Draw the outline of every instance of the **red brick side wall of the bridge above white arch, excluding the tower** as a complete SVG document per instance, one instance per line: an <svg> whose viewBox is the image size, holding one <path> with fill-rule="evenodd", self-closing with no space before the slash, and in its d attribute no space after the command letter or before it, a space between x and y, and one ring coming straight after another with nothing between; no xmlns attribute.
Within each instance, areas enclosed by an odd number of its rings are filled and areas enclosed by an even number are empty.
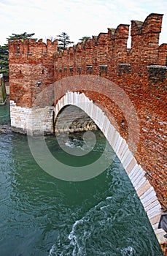
<svg viewBox="0 0 167 256"><path fill-rule="evenodd" d="M151 14L144 23L131 22L131 49L127 50L128 25L109 29L55 56L55 80L66 76L90 74L112 80L130 97L140 123L136 159L147 171L164 210L166 191L166 89L167 45L158 45L163 15ZM60 71L61 69L61 71ZM72 72L71 72L72 69ZM84 91L73 84L69 91ZM66 91L62 92L65 93ZM128 125L115 102L95 91L85 91L93 102L110 110L120 134L127 139ZM103 107L102 106L102 107ZM144 159L144 160L143 160ZM158 178L157 178L158 177Z"/></svg>

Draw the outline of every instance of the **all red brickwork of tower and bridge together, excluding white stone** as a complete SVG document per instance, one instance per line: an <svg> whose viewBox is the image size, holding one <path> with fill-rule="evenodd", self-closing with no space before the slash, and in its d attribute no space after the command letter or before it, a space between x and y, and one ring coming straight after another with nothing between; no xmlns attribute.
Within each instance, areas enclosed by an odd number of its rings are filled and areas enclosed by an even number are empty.
<svg viewBox="0 0 167 256"><path fill-rule="evenodd" d="M57 52L57 41L9 42L9 85L10 99L16 106L31 108L38 94L51 83L77 76L79 84L69 83L68 89L62 86L57 91L55 88L54 105L67 91L84 92L101 106L111 124L128 141L128 123L118 108L117 97L114 101L107 97L112 91L104 84L103 93L94 91L93 86L88 89L82 75L106 78L123 89L139 119L140 136L134 157L166 211L167 44L158 44L162 18L163 15L150 14L144 22L132 20L131 49L127 49L129 25L123 24L61 53ZM133 126L133 118L130 120Z"/></svg>

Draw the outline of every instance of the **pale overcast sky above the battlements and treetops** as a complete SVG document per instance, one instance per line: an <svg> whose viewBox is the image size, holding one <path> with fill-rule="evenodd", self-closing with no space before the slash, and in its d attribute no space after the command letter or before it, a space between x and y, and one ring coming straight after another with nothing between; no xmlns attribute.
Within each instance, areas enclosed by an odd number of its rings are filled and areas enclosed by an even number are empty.
<svg viewBox="0 0 167 256"><path fill-rule="evenodd" d="M164 14L160 44L167 43L167 0L0 0L0 45L23 32L38 39L66 32L77 43L120 23L144 21L152 12Z"/></svg>

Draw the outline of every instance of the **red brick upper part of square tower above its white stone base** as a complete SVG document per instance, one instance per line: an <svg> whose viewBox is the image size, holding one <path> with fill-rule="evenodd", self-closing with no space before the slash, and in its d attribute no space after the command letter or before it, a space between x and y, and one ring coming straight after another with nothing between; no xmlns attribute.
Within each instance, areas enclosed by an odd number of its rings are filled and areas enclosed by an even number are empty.
<svg viewBox="0 0 167 256"><path fill-rule="evenodd" d="M57 41L47 44L40 39L9 42L10 99L18 106L31 108L32 102L46 86L53 83L53 60Z"/></svg>

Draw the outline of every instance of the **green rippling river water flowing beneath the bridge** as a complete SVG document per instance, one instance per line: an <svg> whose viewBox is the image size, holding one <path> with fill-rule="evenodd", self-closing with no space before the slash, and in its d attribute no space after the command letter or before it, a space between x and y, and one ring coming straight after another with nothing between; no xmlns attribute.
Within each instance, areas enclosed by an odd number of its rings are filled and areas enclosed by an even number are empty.
<svg viewBox="0 0 167 256"><path fill-rule="evenodd" d="M9 123L7 105L0 108L0 116L1 125ZM93 154L105 141L101 132L96 138ZM65 162L56 138L45 140L52 154ZM76 146L82 143L74 140L72 146L75 141ZM95 178L62 181L36 164L25 135L1 134L0 255L163 254L117 157Z"/></svg>

